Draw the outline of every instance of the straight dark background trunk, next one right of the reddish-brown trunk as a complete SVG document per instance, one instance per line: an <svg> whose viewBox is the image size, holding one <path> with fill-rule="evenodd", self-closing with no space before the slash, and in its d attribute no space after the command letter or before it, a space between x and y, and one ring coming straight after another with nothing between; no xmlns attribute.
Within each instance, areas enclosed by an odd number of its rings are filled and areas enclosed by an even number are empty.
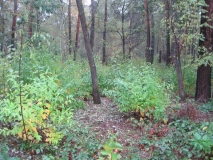
<svg viewBox="0 0 213 160"><path fill-rule="evenodd" d="M169 0L166 1L166 65L171 63L171 54L170 54L170 29L169 29Z"/></svg>

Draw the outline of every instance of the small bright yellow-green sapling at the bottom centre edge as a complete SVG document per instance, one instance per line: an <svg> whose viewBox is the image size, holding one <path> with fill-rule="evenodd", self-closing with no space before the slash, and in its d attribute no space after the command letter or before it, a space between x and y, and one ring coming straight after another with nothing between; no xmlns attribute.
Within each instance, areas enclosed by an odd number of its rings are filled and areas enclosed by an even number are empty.
<svg viewBox="0 0 213 160"><path fill-rule="evenodd" d="M101 150L101 157L99 160L104 160L105 157L109 160L121 159L121 155L117 152L122 150L122 145L116 142L116 136L111 135L110 139L103 145L103 150Z"/></svg>

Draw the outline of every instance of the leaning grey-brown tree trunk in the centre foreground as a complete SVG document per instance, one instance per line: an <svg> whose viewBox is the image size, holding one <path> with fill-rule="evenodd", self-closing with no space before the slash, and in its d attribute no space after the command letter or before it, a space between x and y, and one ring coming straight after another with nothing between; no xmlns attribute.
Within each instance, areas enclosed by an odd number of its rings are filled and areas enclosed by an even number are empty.
<svg viewBox="0 0 213 160"><path fill-rule="evenodd" d="M91 72L91 78L92 78L93 101L95 104L100 104L101 99L100 99L99 90L98 90L98 79L97 79L97 73L96 73L96 66L95 66L93 55L92 55L92 50L91 50L91 47L89 44L88 31L87 31L87 26L86 26L86 18L85 18L82 0L76 0L76 3L77 3L77 7L78 7L78 12L80 15L81 27L82 27L82 31L83 31L83 35L84 35L84 43L85 43L85 48L87 51L87 57L88 57L89 66L90 66L90 72Z"/></svg>

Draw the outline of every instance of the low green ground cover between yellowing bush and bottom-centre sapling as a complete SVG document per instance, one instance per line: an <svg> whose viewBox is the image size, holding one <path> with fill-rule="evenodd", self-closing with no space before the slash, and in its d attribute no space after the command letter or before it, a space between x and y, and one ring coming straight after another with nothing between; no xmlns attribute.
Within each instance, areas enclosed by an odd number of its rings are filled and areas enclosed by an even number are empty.
<svg viewBox="0 0 213 160"><path fill-rule="evenodd" d="M49 153L45 158L67 159L70 156L75 160L95 159L94 157L98 156L97 151L102 147L101 143L88 128L74 122L60 146L45 146Z"/></svg>

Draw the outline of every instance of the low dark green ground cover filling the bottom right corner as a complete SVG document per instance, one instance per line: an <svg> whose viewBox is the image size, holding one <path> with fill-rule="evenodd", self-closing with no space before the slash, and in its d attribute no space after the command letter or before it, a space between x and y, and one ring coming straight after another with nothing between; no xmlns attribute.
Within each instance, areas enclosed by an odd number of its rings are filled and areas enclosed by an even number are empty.
<svg viewBox="0 0 213 160"><path fill-rule="evenodd" d="M144 138L140 145L153 150L150 159L202 159L211 154L213 146L212 123L194 124L176 120L169 125L165 137ZM148 135L149 136L149 135Z"/></svg>

